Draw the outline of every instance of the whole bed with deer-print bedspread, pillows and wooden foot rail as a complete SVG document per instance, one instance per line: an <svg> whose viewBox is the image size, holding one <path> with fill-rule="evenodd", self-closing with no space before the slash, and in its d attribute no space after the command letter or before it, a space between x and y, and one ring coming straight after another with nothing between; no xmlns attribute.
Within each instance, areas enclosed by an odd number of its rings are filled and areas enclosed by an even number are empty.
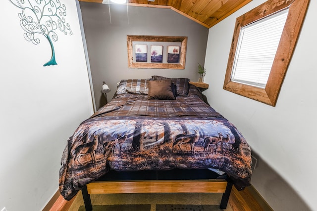
<svg viewBox="0 0 317 211"><path fill-rule="evenodd" d="M90 194L223 193L251 183L251 148L186 78L121 80L113 99L67 140L59 171L66 200ZM215 173L216 172L216 173Z"/></svg>

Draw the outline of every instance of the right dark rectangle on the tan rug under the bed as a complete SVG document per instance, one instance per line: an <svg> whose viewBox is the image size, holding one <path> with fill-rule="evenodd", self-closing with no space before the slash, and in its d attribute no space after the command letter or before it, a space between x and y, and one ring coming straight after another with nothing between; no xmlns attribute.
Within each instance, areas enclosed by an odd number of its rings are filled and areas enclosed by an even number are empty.
<svg viewBox="0 0 317 211"><path fill-rule="evenodd" d="M222 211L219 205L156 205L156 211Z"/></svg>

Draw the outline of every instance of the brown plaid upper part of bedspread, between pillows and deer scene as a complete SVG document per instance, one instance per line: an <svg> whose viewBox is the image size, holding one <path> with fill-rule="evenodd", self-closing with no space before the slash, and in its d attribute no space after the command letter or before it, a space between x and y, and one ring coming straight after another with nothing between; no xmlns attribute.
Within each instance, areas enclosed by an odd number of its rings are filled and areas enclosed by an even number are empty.
<svg viewBox="0 0 317 211"><path fill-rule="evenodd" d="M115 112L113 112L115 111ZM208 106L201 91L190 84L188 95L177 96L176 100L148 100L143 94L119 94L105 107L97 111L95 117L160 117L160 118L213 118L222 116Z"/></svg>

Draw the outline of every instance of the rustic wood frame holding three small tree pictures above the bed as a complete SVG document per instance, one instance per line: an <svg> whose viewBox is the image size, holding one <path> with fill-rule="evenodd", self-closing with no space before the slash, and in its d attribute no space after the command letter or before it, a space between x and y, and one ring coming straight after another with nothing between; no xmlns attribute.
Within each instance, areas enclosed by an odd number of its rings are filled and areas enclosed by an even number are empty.
<svg viewBox="0 0 317 211"><path fill-rule="evenodd" d="M187 37L127 35L128 67L185 69Z"/></svg>

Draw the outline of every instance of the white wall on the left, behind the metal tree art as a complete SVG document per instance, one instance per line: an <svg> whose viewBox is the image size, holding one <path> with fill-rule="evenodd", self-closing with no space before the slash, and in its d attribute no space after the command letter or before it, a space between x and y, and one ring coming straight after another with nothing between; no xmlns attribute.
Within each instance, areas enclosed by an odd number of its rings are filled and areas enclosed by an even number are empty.
<svg viewBox="0 0 317 211"><path fill-rule="evenodd" d="M93 113L76 1L66 5L73 35L56 31L58 65L49 42L23 38L18 13L8 0L0 7L0 209L42 210L58 189L66 140Z"/></svg>

